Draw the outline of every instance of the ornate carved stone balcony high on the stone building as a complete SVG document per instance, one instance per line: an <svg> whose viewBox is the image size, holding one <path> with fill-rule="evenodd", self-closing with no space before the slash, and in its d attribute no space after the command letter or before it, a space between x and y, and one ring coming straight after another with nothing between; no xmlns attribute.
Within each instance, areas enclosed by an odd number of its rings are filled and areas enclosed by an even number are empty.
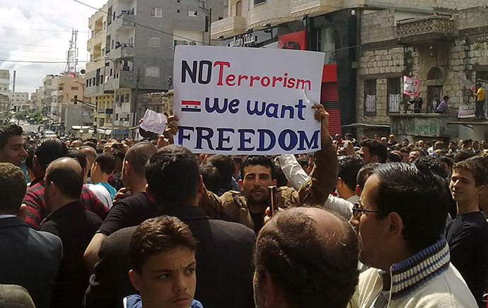
<svg viewBox="0 0 488 308"><path fill-rule="evenodd" d="M428 16L399 20L397 38L402 43L428 43L433 40L453 40L454 20L449 16Z"/></svg>

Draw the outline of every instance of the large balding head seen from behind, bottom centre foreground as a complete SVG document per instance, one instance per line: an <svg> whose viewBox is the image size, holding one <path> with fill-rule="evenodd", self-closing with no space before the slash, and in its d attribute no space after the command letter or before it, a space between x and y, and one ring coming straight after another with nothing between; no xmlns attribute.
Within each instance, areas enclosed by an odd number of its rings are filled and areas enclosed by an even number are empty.
<svg viewBox="0 0 488 308"><path fill-rule="evenodd" d="M346 220L318 208L291 208L257 237L257 308L346 307L358 282L358 239Z"/></svg>

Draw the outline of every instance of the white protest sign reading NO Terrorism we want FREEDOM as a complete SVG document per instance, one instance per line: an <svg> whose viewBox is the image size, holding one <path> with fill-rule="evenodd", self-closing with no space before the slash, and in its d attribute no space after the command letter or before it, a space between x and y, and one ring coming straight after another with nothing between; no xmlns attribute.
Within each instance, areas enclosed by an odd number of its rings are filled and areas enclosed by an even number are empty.
<svg viewBox="0 0 488 308"><path fill-rule="evenodd" d="M324 55L286 49L177 46L175 143L193 153L320 150Z"/></svg>

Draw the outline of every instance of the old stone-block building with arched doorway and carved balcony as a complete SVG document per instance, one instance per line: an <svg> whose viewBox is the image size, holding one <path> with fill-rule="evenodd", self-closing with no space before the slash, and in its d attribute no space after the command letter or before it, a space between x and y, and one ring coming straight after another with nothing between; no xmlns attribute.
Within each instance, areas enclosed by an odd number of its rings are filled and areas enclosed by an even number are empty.
<svg viewBox="0 0 488 308"><path fill-rule="evenodd" d="M465 4L467 5L467 4ZM486 138L485 123L458 119L475 102L465 83L488 80L488 8L365 12L361 19L357 116L359 132L414 138ZM402 76L419 78L424 100L413 113ZM465 81L465 82L463 82ZM485 83L486 85L486 83ZM434 95L448 96L448 114L434 114ZM373 125L371 125L373 124ZM488 124L488 123L487 123Z"/></svg>

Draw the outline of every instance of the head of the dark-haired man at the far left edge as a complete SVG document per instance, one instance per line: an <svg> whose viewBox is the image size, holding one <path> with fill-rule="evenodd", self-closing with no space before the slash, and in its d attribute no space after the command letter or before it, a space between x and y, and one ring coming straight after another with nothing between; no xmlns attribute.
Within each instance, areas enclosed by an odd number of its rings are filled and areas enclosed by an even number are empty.
<svg viewBox="0 0 488 308"><path fill-rule="evenodd" d="M23 160L27 158L22 133L21 126L0 126L0 162L10 162L21 167Z"/></svg>

